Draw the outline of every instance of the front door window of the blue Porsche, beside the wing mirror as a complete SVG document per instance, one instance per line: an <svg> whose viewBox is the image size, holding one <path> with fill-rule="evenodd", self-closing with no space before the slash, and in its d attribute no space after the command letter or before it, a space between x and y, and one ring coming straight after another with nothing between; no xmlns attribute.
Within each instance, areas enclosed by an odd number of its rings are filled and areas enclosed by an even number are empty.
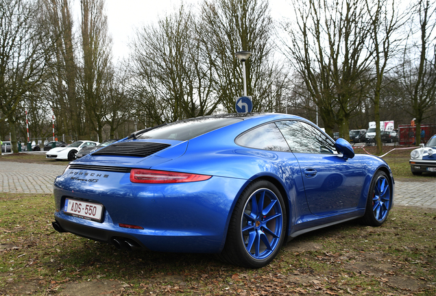
<svg viewBox="0 0 436 296"><path fill-rule="evenodd" d="M302 121L278 121L276 125L295 153L337 153L335 143L316 127Z"/></svg>

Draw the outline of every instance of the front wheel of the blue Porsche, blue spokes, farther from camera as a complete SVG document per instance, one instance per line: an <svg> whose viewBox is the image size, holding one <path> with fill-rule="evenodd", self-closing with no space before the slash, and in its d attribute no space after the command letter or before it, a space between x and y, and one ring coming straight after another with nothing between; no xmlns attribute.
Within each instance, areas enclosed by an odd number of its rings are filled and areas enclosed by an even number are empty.
<svg viewBox="0 0 436 296"><path fill-rule="evenodd" d="M392 203L392 190L389 178L383 171L377 171L371 181L363 223L380 226L386 219Z"/></svg>

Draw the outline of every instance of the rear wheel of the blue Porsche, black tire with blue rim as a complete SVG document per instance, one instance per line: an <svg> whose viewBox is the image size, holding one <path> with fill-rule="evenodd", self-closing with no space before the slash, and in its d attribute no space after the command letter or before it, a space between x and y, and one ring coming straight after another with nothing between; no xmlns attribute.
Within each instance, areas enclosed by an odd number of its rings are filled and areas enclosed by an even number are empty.
<svg viewBox="0 0 436 296"><path fill-rule="evenodd" d="M243 190L234 207L219 258L241 267L264 267L280 251L286 225L280 191L271 182L255 181Z"/></svg>

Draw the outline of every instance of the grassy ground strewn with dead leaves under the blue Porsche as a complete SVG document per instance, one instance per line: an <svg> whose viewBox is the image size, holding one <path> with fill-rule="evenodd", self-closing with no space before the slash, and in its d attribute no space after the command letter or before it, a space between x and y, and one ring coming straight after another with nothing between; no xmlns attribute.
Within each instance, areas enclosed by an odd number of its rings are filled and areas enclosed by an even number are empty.
<svg viewBox="0 0 436 296"><path fill-rule="evenodd" d="M51 195L0 193L0 295L435 295L436 211L310 232L262 269L211 254L128 253L60 234ZM80 292L82 291L82 292Z"/></svg>

